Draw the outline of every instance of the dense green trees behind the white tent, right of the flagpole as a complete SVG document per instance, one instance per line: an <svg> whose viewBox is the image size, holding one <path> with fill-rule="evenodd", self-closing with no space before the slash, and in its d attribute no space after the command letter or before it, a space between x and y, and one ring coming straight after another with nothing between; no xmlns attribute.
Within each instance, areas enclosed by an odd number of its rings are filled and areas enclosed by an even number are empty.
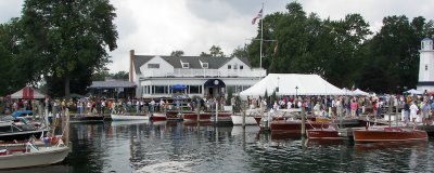
<svg viewBox="0 0 434 173"><path fill-rule="evenodd" d="M260 23L255 39L260 39ZM386 16L373 34L359 14L340 21L306 14L297 2L286 12L264 17L263 67L268 72L317 74L343 88L395 93L418 82L420 41L434 34L422 16ZM259 67L259 41L253 39L233 54ZM277 45L277 49L276 49Z"/></svg>

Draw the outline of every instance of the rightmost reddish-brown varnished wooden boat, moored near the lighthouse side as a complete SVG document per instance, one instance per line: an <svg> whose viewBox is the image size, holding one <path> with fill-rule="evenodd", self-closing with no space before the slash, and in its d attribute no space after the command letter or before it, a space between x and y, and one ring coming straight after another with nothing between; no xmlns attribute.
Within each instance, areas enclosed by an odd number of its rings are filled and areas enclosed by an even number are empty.
<svg viewBox="0 0 434 173"><path fill-rule="evenodd" d="M422 130L405 128L367 128L353 131L355 142L427 141Z"/></svg>

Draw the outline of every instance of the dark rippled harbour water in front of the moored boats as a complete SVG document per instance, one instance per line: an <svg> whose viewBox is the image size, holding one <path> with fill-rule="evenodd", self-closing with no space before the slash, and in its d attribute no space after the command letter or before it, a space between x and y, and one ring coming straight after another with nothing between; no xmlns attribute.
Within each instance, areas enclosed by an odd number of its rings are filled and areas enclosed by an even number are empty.
<svg viewBox="0 0 434 173"><path fill-rule="evenodd" d="M71 125L56 165L12 172L434 172L434 141L353 144L186 122Z"/></svg>

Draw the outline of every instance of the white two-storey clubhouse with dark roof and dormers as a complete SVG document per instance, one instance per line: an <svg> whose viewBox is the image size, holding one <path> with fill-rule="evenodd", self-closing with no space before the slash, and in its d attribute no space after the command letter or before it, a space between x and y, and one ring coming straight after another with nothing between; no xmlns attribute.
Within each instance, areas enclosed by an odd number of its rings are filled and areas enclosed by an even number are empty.
<svg viewBox="0 0 434 173"><path fill-rule="evenodd" d="M171 96L175 84L186 85L189 96L214 97L229 89L237 94L267 74L252 68L247 58L136 55L133 50L129 68L137 97Z"/></svg>

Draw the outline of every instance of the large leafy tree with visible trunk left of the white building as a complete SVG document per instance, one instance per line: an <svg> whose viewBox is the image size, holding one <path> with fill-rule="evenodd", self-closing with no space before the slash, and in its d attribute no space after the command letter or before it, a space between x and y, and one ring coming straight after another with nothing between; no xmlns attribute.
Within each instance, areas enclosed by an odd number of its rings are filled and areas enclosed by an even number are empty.
<svg viewBox="0 0 434 173"><path fill-rule="evenodd" d="M106 50L117 48L114 11L108 0L25 1L25 54L44 62L46 76L63 79L67 98L74 71L80 67L90 79L94 70L111 62Z"/></svg>

